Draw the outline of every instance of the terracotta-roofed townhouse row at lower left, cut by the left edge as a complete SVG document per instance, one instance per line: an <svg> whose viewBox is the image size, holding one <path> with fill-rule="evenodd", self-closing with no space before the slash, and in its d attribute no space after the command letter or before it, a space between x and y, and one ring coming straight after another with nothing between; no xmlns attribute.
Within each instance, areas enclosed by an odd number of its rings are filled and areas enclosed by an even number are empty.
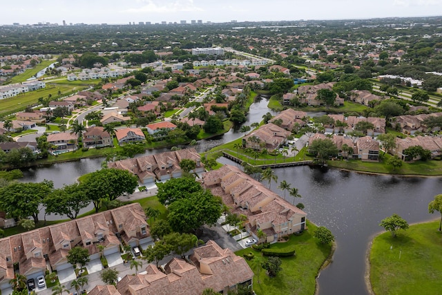
<svg viewBox="0 0 442 295"><path fill-rule="evenodd" d="M9 280L14 278L16 263L19 273L28 278L45 275L48 268L57 270L59 275L65 272L75 276L73 266L66 258L68 251L75 246L88 249L90 260L99 258L97 245L105 247L105 256L120 256L117 234L131 246L144 245L145 248L152 242L146 216L140 204L128 204L84 218L1 238L0 289L3 291L10 287Z"/></svg>

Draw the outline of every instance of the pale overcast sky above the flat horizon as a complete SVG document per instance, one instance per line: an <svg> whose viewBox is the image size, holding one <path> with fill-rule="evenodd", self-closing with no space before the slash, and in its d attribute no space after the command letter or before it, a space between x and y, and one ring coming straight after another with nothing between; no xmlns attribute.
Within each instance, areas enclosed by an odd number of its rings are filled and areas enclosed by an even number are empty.
<svg viewBox="0 0 442 295"><path fill-rule="evenodd" d="M2 1L0 24L367 19L442 15L442 0L20 0Z"/></svg>

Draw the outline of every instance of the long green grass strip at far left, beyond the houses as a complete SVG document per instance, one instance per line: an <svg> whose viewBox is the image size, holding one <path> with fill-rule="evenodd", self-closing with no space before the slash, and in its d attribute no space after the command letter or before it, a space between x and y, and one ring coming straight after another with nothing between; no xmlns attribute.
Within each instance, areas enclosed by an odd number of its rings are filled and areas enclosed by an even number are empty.
<svg viewBox="0 0 442 295"><path fill-rule="evenodd" d="M75 93L76 91L80 91L83 88L73 88L70 86L46 86L46 88L39 89L37 91L30 91L28 93L23 93L15 97L0 99L0 115L8 115L11 113L23 111L26 106L30 104L37 104L39 97L46 98L48 97L48 95L52 95L52 97L56 98L58 97L58 91L61 91L61 96L64 96L70 93Z"/></svg>

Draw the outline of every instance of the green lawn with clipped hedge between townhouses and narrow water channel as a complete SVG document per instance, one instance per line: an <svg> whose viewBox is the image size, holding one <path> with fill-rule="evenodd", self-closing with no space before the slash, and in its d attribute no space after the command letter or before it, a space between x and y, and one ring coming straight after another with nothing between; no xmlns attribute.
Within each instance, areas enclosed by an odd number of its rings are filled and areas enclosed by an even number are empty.
<svg viewBox="0 0 442 295"><path fill-rule="evenodd" d="M282 272L274 278L267 276L265 269L260 268L260 271L258 271L255 267L256 263L267 259L259 251L249 247L236 252L239 256L250 252L254 254L252 260L246 261L255 273L255 276L253 276L253 291L256 294L314 294L316 288L315 278L318 276L321 265L329 257L332 246L318 244L317 240L313 238L316 226L307 221L307 227L308 230L301 236L291 235L289 241L271 245L272 248L287 247L289 245L294 245L296 248L296 256L281 258Z"/></svg>

